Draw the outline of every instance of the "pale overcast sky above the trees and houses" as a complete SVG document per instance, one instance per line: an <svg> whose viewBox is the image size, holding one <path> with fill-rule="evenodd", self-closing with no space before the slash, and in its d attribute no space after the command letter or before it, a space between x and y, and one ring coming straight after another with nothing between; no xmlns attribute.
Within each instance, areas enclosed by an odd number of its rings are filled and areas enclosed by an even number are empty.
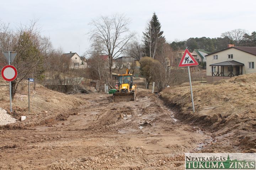
<svg viewBox="0 0 256 170"><path fill-rule="evenodd" d="M41 33L55 48L82 55L89 48L91 19L124 13L130 30L142 34L153 12L167 41L190 37L219 37L242 28L256 31L255 0L1 0L0 19L17 27L39 19Z"/></svg>

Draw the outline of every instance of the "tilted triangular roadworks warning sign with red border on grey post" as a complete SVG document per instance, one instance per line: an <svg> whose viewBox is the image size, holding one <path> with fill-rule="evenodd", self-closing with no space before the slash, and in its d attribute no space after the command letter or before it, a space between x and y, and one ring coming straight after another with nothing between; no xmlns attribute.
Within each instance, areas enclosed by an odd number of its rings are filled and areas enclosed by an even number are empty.
<svg viewBox="0 0 256 170"><path fill-rule="evenodd" d="M193 99L192 83L191 83L191 77L190 77L190 66L198 66L198 63L194 59L194 57L191 55L191 53L188 51L188 49L186 49L181 58L179 67L187 67L187 69L188 69L188 78L190 81L190 91L191 91L191 101L192 101L192 107L193 107L193 113L194 113L194 99Z"/></svg>

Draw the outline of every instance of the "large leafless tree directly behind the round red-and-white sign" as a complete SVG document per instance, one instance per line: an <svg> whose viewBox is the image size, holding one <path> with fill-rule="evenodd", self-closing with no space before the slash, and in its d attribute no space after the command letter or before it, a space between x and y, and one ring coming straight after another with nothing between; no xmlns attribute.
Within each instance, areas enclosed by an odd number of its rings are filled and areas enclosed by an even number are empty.
<svg viewBox="0 0 256 170"><path fill-rule="evenodd" d="M37 21L31 21L27 26L20 25L11 30L6 24L0 24L1 51L16 51L17 55L12 62L17 68L17 78L11 82L12 99L17 92L19 84L29 77L35 80L43 79L44 57L49 48L49 38L42 37L36 26ZM1 60L6 62L4 57Z"/></svg>

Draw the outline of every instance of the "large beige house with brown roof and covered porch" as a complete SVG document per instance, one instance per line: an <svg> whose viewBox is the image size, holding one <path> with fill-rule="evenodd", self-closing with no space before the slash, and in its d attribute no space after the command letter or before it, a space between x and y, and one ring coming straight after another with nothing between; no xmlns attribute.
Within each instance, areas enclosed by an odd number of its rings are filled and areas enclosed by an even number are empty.
<svg viewBox="0 0 256 170"><path fill-rule="evenodd" d="M256 73L256 47L235 47L229 44L227 49L210 53L206 58L207 83Z"/></svg>

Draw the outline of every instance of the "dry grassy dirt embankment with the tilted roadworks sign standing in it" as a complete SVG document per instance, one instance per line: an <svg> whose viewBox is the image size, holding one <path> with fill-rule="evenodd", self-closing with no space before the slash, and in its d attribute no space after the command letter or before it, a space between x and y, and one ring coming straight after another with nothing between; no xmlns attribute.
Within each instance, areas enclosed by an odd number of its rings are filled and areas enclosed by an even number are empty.
<svg viewBox="0 0 256 170"><path fill-rule="evenodd" d="M195 113L190 87L166 88L160 97L180 111L178 119L203 126L231 148L256 152L256 74L246 74L212 84L193 86ZM213 109L206 109L215 107ZM230 147L230 146L229 146Z"/></svg>

